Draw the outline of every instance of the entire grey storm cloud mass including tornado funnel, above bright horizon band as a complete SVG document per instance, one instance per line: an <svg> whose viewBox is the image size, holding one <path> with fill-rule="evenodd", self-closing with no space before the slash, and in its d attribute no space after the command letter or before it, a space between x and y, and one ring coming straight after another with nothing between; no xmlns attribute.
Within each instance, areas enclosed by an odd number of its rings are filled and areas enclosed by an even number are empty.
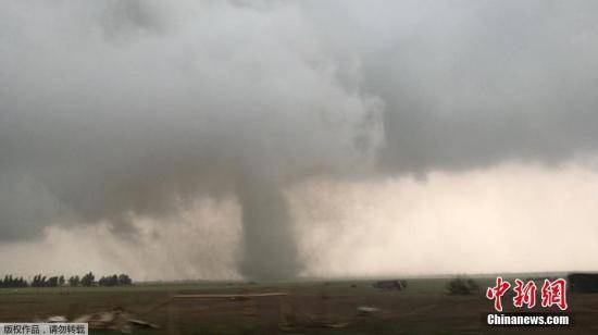
<svg viewBox="0 0 598 335"><path fill-rule="evenodd" d="M290 276L297 178L594 150L596 18L595 1L8 1L0 239L126 232L233 193L244 273Z"/></svg>

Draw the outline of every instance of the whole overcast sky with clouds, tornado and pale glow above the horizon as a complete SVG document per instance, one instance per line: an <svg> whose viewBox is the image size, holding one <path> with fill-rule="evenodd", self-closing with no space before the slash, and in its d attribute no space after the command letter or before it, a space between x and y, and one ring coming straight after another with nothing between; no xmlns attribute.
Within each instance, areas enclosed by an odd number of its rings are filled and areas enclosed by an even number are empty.
<svg viewBox="0 0 598 335"><path fill-rule="evenodd" d="M596 270L596 36L591 0L7 1L0 268Z"/></svg>

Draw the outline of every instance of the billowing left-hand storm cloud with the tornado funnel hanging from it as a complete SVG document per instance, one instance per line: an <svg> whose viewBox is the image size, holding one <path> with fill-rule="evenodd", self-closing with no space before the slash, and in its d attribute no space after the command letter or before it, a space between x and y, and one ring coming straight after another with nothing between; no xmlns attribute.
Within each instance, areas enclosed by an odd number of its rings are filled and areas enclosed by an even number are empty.
<svg viewBox="0 0 598 335"><path fill-rule="evenodd" d="M134 215L234 193L244 273L291 276L283 186L366 169L382 138L379 101L335 78L295 5L14 1L0 15L4 240L66 222L130 233Z"/></svg>

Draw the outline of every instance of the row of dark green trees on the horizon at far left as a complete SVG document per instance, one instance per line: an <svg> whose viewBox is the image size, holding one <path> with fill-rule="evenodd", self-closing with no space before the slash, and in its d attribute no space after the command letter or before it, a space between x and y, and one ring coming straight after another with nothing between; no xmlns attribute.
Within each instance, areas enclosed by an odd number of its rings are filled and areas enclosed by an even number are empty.
<svg viewBox="0 0 598 335"><path fill-rule="evenodd" d="M100 277L96 281L92 272L86 273L83 276L74 275L66 280L63 275L47 277L45 275L35 275L32 282L27 282L23 277L16 277L12 274L7 274L4 278L0 278L0 287L59 287L59 286L126 286L133 285L133 280L127 274L112 274Z"/></svg>

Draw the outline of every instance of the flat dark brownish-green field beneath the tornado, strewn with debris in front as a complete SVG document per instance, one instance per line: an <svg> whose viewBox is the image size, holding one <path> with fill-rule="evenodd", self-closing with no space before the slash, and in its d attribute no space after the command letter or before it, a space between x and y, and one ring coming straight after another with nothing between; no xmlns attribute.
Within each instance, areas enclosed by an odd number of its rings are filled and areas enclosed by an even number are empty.
<svg viewBox="0 0 598 335"><path fill-rule="evenodd" d="M409 280L407 289L379 290L371 281L277 284L185 283L130 287L0 289L0 322L30 322L49 315L68 320L121 309L160 325L135 334L514 334L490 328L482 314L491 311L484 297L491 280L476 280L471 296L447 294L445 278ZM279 291L282 297L182 299L175 295ZM510 299L506 296L506 311ZM570 294L576 324L568 328L526 328L538 334L598 334L598 295ZM358 307L379 309L359 315ZM94 334L114 333L91 331Z"/></svg>

